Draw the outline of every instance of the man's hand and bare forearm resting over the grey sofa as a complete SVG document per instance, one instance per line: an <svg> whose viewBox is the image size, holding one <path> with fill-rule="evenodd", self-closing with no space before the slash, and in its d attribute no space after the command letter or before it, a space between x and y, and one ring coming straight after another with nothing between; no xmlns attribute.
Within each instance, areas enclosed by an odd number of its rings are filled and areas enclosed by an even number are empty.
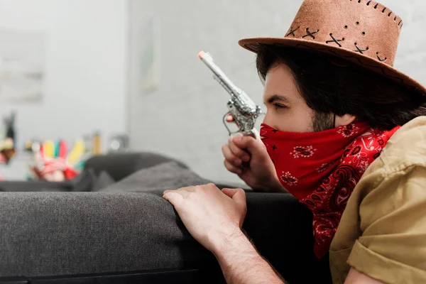
<svg viewBox="0 0 426 284"><path fill-rule="evenodd" d="M194 239L216 256L227 283L283 283L241 231L247 212L244 190L221 191L209 184L166 190L163 197Z"/></svg>

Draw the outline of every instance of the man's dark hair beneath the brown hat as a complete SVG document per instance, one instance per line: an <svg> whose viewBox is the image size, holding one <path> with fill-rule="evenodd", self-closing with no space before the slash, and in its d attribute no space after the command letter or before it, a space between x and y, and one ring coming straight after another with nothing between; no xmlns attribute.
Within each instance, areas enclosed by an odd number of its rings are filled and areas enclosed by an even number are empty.
<svg viewBox="0 0 426 284"><path fill-rule="evenodd" d="M426 97L402 84L332 55L262 45L256 59L262 80L271 67L290 67L307 105L320 114L351 114L371 127L393 129L426 115Z"/></svg>

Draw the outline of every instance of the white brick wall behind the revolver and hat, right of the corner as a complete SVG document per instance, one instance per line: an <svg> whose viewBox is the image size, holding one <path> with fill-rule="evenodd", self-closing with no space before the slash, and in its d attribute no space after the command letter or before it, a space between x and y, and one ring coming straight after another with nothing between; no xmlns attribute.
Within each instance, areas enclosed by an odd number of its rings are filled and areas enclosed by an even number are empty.
<svg viewBox="0 0 426 284"><path fill-rule="evenodd" d="M197 53L200 50L212 53L231 80L261 104L262 85L256 74L254 55L236 42L251 36L283 36L301 3L301 0L131 1L131 35L136 35L153 15L158 16L161 29L161 86L157 92L138 91L138 62L130 62L129 130L133 149L172 155L214 181L238 181L224 169L221 152L227 139L222 116L229 97L212 79ZM426 84L423 68L426 1L381 3L404 20L396 67ZM133 42L131 54L135 55L137 49L138 43Z"/></svg>

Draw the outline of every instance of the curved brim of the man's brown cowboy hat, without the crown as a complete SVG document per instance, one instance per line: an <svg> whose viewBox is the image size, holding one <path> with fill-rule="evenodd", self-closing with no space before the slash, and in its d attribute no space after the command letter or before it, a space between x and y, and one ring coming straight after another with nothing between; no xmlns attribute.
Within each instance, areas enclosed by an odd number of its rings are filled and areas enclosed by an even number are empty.
<svg viewBox="0 0 426 284"><path fill-rule="evenodd" d="M326 43L317 43L310 40L303 40L298 38L244 38L239 40L239 45L253 53L258 53L261 45L273 45L278 47L293 47L303 48L307 50L313 50L319 53L325 53L329 55L336 55L339 58L353 62L356 65L365 67L368 70L378 73L379 75L388 77L395 82L403 84L408 89L420 92L422 95L426 95L426 88L413 78L405 75L386 63L379 60L374 60L361 53L356 53L351 50L339 48L337 46L328 45Z"/></svg>

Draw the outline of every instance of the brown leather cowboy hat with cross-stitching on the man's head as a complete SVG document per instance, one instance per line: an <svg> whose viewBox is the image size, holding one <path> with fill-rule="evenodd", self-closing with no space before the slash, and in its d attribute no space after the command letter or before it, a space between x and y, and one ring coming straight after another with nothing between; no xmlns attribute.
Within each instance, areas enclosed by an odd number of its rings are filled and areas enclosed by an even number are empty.
<svg viewBox="0 0 426 284"><path fill-rule="evenodd" d="M305 0L283 38L245 38L243 48L261 45L305 48L336 55L426 94L419 82L393 68L403 21L371 0Z"/></svg>

